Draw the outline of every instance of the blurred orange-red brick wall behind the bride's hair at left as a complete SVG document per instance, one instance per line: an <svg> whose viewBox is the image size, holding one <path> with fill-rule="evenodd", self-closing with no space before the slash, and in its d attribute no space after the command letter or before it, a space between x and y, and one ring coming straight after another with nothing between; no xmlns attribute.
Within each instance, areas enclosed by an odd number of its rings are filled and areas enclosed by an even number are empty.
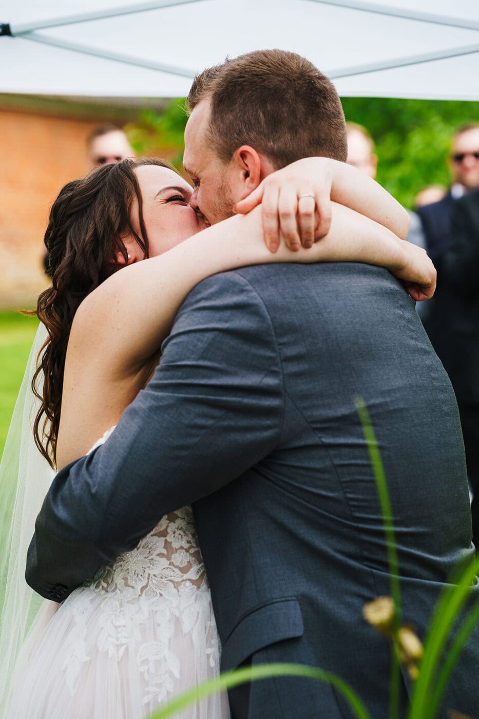
<svg viewBox="0 0 479 719"><path fill-rule="evenodd" d="M96 120L0 111L0 308L35 306L47 286L43 234L60 188L88 170Z"/></svg>

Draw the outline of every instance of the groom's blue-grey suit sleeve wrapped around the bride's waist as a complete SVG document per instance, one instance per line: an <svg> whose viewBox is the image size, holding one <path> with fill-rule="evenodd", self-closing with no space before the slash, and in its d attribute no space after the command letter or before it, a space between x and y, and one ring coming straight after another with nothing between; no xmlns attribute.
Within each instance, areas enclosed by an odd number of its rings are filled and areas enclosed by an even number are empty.
<svg viewBox="0 0 479 719"><path fill-rule="evenodd" d="M278 347L263 302L239 273L198 285L162 349L117 429L64 467L45 498L26 573L44 597L64 599L165 513L215 492L278 443Z"/></svg>

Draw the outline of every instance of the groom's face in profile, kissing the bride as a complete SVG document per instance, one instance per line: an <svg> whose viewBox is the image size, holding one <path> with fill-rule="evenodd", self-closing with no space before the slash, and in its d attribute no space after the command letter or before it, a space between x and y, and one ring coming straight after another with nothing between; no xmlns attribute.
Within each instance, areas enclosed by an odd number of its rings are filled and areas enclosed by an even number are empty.
<svg viewBox="0 0 479 719"><path fill-rule="evenodd" d="M208 99L193 109L185 129L183 167L194 183L191 206L215 224L231 217L234 203L245 194L232 163L220 160L209 145L209 115Z"/></svg>

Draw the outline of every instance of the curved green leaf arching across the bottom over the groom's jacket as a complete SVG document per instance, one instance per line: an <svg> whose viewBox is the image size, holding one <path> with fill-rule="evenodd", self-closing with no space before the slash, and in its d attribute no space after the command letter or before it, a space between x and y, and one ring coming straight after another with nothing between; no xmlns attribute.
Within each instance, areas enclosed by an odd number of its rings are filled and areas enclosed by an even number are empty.
<svg viewBox="0 0 479 719"><path fill-rule="evenodd" d="M199 687L184 692L176 699L168 702L163 708L150 715L150 719L173 717L180 710L185 709L193 702L204 699L210 694L223 692L224 690L232 689L232 687L237 687L239 684L256 682L258 679L268 679L269 677L305 677L306 679L316 679L319 682L332 684L345 697L357 719L370 719L365 705L349 684L337 677L336 674L324 672L323 669L316 667L308 667L306 664L259 664L256 667L244 667L234 669L232 672L224 672L219 677L210 679L209 682L204 682Z"/></svg>

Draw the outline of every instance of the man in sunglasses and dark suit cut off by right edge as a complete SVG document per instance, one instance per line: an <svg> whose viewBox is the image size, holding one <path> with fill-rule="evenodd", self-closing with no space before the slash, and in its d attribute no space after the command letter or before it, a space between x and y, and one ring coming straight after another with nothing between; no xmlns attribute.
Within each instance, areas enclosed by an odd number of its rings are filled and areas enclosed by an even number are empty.
<svg viewBox="0 0 479 719"><path fill-rule="evenodd" d="M424 327L457 397L479 547L479 123L457 130L449 165L450 191L417 210L437 269Z"/></svg>

